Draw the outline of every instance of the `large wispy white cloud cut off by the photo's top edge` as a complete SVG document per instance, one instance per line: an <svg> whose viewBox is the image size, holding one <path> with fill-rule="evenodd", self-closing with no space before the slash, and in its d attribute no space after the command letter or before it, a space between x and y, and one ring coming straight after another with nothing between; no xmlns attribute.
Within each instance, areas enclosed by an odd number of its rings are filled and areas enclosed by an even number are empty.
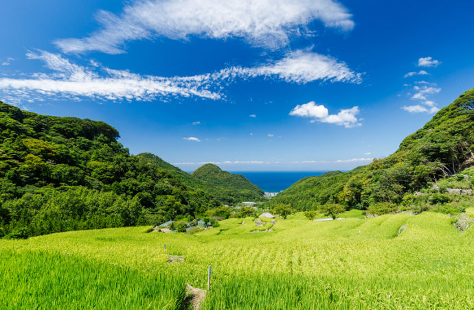
<svg viewBox="0 0 474 310"><path fill-rule="evenodd" d="M293 36L311 36L308 25L317 20L343 31L354 27L352 15L333 0L139 0L119 15L99 11L101 27L86 38L56 40L65 53L102 51L123 53L131 40L190 36L242 38L257 47L277 49Z"/></svg>

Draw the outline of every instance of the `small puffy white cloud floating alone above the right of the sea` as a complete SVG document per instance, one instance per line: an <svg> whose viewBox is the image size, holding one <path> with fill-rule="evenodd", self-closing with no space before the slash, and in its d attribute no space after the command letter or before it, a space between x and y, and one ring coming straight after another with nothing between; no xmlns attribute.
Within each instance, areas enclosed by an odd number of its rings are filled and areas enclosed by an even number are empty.
<svg viewBox="0 0 474 310"><path fill-rule="evenodd" d="M308 102L307 104L299 104L291 110L290 115L297 117L308 117L312 119L312 122L319 121L321 123L334 123L339 126L346 128L352 128L361 126L362 124L357 119L356 115L359 114L359 107L354 106L350 109L339 110L335 115L330 115L328 108L322 104L316 104L315 102Z"/></svg>

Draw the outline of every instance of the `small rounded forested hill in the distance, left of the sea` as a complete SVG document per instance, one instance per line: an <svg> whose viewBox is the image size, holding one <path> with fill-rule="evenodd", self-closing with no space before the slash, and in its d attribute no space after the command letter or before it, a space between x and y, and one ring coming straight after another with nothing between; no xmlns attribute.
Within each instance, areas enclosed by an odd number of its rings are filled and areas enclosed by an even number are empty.
<svg viewBox="0 0 474 310"><path fill-rule="evenodd" d="M236 200L262 200L263 191L241 174L229 174L213 164L205 164L192 172L191 176L205 183L207 192L220 200L232 203Z"/></svg>

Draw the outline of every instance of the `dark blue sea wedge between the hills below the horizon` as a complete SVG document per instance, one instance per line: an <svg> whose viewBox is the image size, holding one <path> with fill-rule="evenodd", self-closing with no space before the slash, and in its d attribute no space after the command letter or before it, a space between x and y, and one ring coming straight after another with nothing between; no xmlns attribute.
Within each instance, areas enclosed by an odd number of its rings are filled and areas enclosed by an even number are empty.
<svg viewBox="0 0 474 310"><path fill-rule="evenodd" d="M283 191L301 178L321 176L326 171L229 171L231 174L242 174L263 191L275 193Z"/></svg>

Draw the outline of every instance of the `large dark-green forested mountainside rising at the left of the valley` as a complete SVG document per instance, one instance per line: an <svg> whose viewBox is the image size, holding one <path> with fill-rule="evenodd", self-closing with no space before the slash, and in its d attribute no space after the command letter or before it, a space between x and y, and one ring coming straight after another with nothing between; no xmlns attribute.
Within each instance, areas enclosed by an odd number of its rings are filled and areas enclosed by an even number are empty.
<svg viewBox="0 0 474 310"><path fill-rule="evenodd" d="M131 156L118 136L102 121L0 102L0 237L158 224L239 197L217 198L153 154Z"/></svg>

